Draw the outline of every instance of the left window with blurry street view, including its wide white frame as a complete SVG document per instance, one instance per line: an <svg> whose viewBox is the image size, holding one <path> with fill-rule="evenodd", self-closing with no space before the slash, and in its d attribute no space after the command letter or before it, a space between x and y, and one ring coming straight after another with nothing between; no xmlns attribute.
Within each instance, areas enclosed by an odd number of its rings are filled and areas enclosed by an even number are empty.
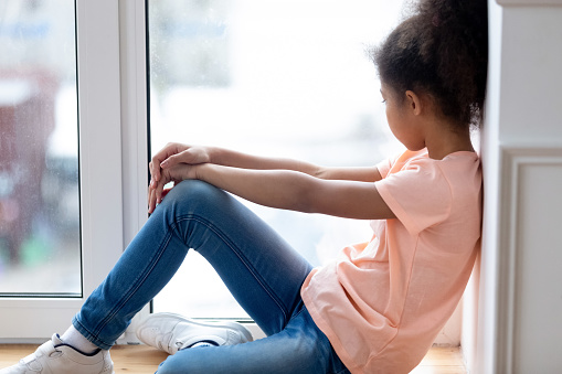
<svg viewBox="0 0 562 374"><path fill-rule="evenodd" d="M0 216L13 224L32 212L21 239L1 234L0 341L44 341L68 327L123 249L118 6L0 9ZM30 267L12 280L22 261Z"/></svg>

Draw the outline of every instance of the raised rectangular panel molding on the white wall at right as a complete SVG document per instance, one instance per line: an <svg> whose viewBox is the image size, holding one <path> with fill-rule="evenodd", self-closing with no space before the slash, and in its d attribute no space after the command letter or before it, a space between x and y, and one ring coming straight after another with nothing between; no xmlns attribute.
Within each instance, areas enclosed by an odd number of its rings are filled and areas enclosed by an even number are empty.
<svg viewBox="0 0 562 374"><path fill-rule="evenodd" d="M496 373L515 373L518 321L518 227L523 191L519 184L523 168L560 165L562 145L501 145L500 146L500 215L498 247L497 300L497 361Z"/></svg>

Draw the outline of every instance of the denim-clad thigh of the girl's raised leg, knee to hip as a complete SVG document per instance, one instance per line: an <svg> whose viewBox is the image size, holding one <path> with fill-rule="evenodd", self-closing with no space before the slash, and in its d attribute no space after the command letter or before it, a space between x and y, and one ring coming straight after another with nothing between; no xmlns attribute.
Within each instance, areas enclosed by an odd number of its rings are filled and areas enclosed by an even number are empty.
<svg viewBox="0 0 562 374"><path fill-rule="evenodd" d="M311 265L235 197L205 182L181 182L161 205L177 235L213 266L264 332L282 331L301 303Z"/></svg>

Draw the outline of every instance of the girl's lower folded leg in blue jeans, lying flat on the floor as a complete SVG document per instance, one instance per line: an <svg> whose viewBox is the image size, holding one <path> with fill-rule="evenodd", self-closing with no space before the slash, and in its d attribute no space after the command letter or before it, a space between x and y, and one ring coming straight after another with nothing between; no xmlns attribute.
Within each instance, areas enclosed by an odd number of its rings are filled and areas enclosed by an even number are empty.
<svg viewBox="0 0 562 374"><path fill-rule="evenodd" d="M157 373L315 374L349 371L303 307L276 334L238 345L185 349L168 357Z"/></svg>

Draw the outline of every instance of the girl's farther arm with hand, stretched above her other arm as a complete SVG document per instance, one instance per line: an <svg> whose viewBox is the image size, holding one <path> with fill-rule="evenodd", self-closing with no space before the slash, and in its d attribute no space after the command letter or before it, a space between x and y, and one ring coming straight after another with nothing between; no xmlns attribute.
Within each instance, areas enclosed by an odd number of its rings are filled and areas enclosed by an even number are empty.
<svg viewBox="0 0 562 374"><path fill-rule="evenodd" d="M251 156L216 147L168 143L160 152L155 154L150 162L150 184L156 185L156 182L160 179L161 170L166 170L180 163L214 163L219 165L253 170L293 170L326 180L374 182L381 179L375 167L324 168L304 161Z"/></svg>

